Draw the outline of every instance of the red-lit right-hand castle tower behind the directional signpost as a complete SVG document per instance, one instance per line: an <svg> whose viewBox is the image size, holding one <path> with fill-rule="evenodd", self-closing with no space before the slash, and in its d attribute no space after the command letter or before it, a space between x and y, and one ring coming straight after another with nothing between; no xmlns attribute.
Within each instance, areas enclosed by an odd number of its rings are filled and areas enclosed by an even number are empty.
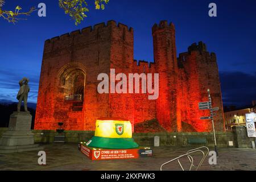
<svg viewBox="0 0 256 182"><path fill-rule="evenodd" d="M200 120L202 116L209 116L209 110L199 110L198 102L208 101L207 89L210 89L212 106L219 107L214 117L216 130L224 130L223 109L221 100L220 79L216 55L207 52L204 43L192 44L188 52L179 55L179 82L181 97L181 121L192 125L196 131L212 131L209 120ZM184 74L185 73L185 74Z"/></svg>

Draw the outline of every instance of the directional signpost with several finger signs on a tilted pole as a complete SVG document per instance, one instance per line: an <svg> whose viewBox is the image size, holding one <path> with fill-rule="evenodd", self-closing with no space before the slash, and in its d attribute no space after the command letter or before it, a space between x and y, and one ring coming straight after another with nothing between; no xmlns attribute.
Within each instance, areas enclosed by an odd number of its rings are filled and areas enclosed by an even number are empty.
<svg viewBox="0 0 256 182"><path fill-rule="evenodd" d="M218 107L212 107L212 98L210 97L210 89L207 89L208 92L208 99L209 101L207 102L199 102L199 109L200 110L210 110L210 115L206 117L201 117L200 119L212 119L212 127L213 127L213 135L214 135L214 148L216 151L216 154L218 156L218 151L217 151L217 143L216 143L216 135L215 135L215 129L214 129L214 122L213 122L213 116L216 114L213 113L213 111L217 111L219 108Z"/></svg>

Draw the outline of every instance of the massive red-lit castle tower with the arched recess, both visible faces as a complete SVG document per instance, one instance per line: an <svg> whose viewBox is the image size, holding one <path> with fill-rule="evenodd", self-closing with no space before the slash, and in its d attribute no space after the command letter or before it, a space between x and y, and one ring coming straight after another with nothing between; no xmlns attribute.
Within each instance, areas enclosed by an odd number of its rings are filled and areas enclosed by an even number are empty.
<svg viewBox="0 0 256 182"><path fill-rule="evenodd" d="M133 28L114 20L46 40L35 129L55 130L63 122L65 130L94 130L101 117L133 125L133 94L97 92L100 73L110 82L110 69L128 75L133 62Z"/></svg>

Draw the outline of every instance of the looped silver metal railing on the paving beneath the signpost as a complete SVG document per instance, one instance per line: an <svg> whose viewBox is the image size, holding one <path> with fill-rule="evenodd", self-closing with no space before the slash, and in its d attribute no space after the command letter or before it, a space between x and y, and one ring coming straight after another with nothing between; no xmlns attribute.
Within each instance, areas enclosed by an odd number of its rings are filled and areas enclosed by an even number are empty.
<svg viewBox="0 0 256 182"><path fill-rule="evenodd" d="M206 149L207 152L205 153L203 150L200 150L201 148ZM198 148L194 148L194 149L192 149L192 150L189 150L189 151L187 151L186 154L180 155L180 156L178 156L178 157L175 158L175 159L172 159L172 160L169 160L169 161L166 162L166 163L163 163L163 164L161 165L161 167L160 167L160 171L162 171L162 168L163 168L164 165L166 165L166 164L168 164L168 163L171 163L171 162L174 162L175 160L177 160L177 162L179 163L180 168L182 169L182 171L184 171L184 168L183 168L183 166L181 165L180 160L179 160L180 158L183 158L183 156L187 156L187 157L188 157L189 162L191 163L191 164L190 164L190 167L189 167L189 171L191 171L192 167L194 167L194 164L193 164L194 159L193 159L193 157L191 156L191 154L193 154L193 153L195 153L195 152L200 152L201 154L203 154L203 157L201 158L201 160L200 160L198 166L196 167L196 171L197 171L197 170L201 167L201 165L203 164L203 162L204 162L205 158L207 157L207 155L209 154L209 148L208 148L208 147L203 146L203 147L198 147Z"/></svg>

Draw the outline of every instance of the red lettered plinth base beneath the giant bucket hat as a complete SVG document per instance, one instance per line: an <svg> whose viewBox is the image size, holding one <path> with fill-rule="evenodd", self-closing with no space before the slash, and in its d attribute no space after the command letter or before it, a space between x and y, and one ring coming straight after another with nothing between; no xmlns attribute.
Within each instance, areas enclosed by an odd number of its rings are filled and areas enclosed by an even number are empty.
<svg viewBox="0 0 256 182"><path fill-rule="evenodd" d="M91 160L113 160L113 159L137 159L139 157L152 156L153 152L148 147L132 149L106 149L92 148L79 143L79 150Z"/></svg>

